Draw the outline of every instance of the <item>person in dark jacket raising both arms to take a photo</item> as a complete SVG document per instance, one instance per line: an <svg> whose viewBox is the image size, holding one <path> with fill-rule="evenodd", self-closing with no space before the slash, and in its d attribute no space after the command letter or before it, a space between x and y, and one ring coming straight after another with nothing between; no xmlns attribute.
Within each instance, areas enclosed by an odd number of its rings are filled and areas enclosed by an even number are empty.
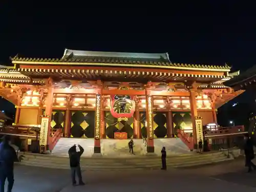
<svg viewBox="0 0 256 192"><path fill-rule="evenodd" d="M80 167L80 157L83 154L83 148L78 145L80 152L76 151L76 145L74 144L69 149L69 159L70 159L70 169L71 169L71 177L73 185L76 185L76 175L79 179L79 185L84 185L82 181L81 175L81 167Z"/></svg>

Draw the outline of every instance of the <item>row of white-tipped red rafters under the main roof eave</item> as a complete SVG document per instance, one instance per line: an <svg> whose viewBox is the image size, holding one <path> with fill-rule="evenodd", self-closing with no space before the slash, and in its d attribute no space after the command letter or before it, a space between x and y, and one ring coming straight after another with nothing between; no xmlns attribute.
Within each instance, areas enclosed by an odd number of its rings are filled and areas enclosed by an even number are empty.
<svg viewBox="0 0 256 192"><path fill-rule="evenodd" d="M130 68L131 69L131 68ZM196 75L196 74L182 74L182 73L162 73L162 72L148 72L148 71L130 71L127 70L67 70L67 69L27 69L18 68L18 71L26 76L46 78L49 76L66 79L98 79L104 77L105 79L126 78L126 79L149 79L152 81L211 81L215 82L225 78L224 75Z"/></svg>

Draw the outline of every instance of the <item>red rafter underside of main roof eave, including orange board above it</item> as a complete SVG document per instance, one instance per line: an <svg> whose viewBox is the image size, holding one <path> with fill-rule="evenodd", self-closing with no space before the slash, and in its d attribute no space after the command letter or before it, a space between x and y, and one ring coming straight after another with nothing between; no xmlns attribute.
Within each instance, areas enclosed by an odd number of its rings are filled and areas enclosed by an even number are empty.
<svg viewBox="0 0 256 192"><path fill-rule="evenodd" d="M45 66L46 67L46 66ZM134 68L73 68L69 67L66 69L56 66L56 68L41 69L42 67L36 66L20 66L18 72L32 77L32 78L47 78L52 76L53 78L61 79L105 79L115 78L126 78L127 81L136 81L135 78L148 79L152 81L184 81L184 80L197 80L197 81L211 81L215 82L226 78L223 72L196 72L196 71L170 71L170 70L159 70L154 69L134 69Z"/></svg>

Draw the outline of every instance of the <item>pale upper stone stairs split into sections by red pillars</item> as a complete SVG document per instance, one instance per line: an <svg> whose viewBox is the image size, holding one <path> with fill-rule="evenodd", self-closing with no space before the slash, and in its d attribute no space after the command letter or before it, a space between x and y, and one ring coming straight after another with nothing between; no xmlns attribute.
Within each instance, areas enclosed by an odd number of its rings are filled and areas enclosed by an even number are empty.
<svg viewBox="0 0 256 192"><path fill-rule="evenodd" d="M131 157L129 153L130 139L101 139L101 156L104 157ZM146 146L143 139L134 139L134 154L136 156L145 156ZM77 138L60 138L56 144L52 155L59 157L67 157L68 150L74 144L80 144L84 148L83 157L94 156L94 139L77 139ZM189 148L179 138L163 138L154 139L155 153L160 156L163 146L166 148L168 155L189 154Z"/></svg>

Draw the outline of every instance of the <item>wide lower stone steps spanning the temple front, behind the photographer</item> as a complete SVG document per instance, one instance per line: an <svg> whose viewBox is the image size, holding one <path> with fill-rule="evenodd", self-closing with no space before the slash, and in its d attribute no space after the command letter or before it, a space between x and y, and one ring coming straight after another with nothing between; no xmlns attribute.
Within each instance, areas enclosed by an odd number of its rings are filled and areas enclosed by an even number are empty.
<svg viewBox="0 0 256 192"><path fill-rule="evenodd" d="M68 157L53 155L24 154L20 164L48 168L69 169ZM181 168L204 164L217 163L234 159L232 155L227 158L223 152L210 152L205 154L190 154L169 156L166 159L167 167ZM131 158L91 157L81 158L83 170L129 170L129 169L159 169L161 158L157 156L134 156Z"/></svg>

